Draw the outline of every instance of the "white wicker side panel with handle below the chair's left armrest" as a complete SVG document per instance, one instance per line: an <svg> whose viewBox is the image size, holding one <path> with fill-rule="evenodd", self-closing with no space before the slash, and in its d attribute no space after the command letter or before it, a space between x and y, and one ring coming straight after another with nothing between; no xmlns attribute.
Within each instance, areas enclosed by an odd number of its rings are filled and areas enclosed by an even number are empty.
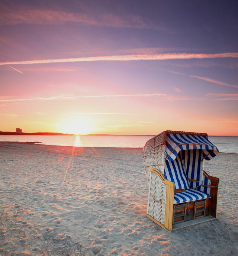
<svg viewBox="0 0 238 256"><path fill-rule="evenodd" d="M157 174L150 172L147 214L163 225L165 223L166 191L167 185Z"/></svg>

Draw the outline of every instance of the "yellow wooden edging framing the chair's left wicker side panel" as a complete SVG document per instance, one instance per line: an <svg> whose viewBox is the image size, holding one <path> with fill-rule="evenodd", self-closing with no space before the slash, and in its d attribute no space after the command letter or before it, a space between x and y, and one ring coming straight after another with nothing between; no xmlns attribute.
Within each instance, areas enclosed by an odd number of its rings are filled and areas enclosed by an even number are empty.
<svg viewBox="0 0 238 256"><path fill-rule="evenodd" d="M166 203L165 203L165 221L164 221L164 225L160 223L160 226L165 227L166 230L169 230L171 232L172 226L173 226L174 183L169 180L166 180L164 178L164 175L157 169L151 168L150 171L157 174L160 177L161 181L165 185L167 185ZM155 223L158 224L158 221Z"/></svg>

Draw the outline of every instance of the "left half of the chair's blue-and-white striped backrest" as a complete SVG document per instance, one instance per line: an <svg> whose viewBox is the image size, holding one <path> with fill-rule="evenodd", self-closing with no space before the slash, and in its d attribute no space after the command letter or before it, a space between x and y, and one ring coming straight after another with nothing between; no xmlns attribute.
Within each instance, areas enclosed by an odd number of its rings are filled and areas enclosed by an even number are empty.
<svg viewBox="0 0 238 256"><path fill-rule="evenodd" d="M188 189L186 173L181 156L178 155L174 161L166 160L164 163L164 177L174 182L174 188Z"/></svg>

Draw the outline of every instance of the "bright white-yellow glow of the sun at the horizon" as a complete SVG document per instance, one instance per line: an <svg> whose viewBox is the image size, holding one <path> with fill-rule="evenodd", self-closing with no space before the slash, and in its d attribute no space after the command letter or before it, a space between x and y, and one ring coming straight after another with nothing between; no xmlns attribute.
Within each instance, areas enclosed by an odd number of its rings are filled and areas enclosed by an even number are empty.
<svg viewBox="0 0 238 256"><path fill-rule="evenodd" d="M94 131L94 127L91 120L79 119L75 116L75 118L64 120L60 130L69 134L90 134Z"/></svg>

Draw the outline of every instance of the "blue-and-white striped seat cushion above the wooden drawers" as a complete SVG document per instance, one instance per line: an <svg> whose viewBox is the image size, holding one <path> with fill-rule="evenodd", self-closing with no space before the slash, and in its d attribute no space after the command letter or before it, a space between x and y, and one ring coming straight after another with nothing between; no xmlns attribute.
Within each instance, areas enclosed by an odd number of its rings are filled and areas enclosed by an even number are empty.
<svg viewBox="0 0 238 256"><path fill-rule="evenodd" d="M194 201L194 200L204 199L204 198L210 198L210 195L202 191L197 191L196 189L187 189L183 192L174 194L174 204L189 202L189 201Z"/></svg>

